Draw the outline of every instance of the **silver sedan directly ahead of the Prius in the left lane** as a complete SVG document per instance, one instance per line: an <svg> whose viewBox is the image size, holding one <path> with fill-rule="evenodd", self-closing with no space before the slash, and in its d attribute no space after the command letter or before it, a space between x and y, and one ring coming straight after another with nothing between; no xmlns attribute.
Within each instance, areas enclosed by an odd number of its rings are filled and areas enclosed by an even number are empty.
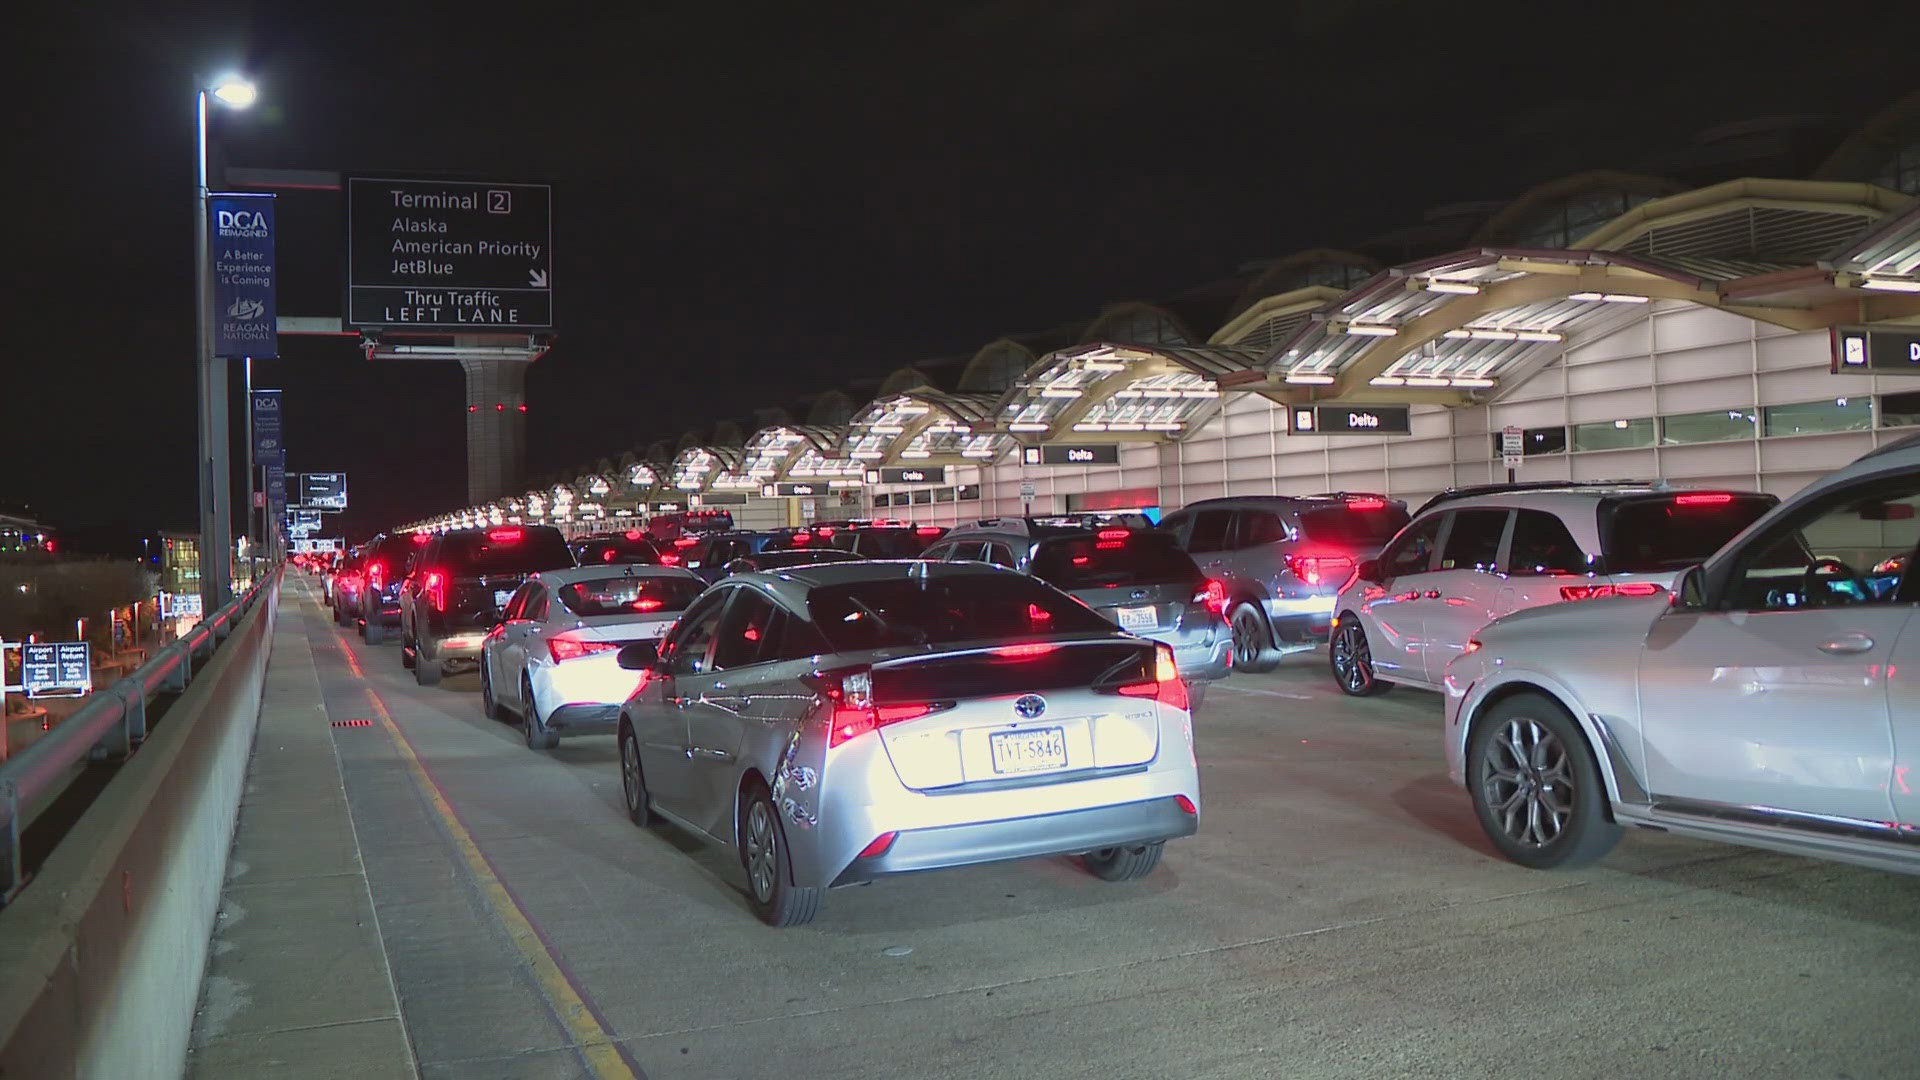
<svg viewBox="0 0 1920 1080"><path fill-rule="evenodd" d="M614 653L653 640L707 588L674 567L574 567L526 578L480 646L480 707L520 717L530 749L612 734L634 673Z"/></svg>

